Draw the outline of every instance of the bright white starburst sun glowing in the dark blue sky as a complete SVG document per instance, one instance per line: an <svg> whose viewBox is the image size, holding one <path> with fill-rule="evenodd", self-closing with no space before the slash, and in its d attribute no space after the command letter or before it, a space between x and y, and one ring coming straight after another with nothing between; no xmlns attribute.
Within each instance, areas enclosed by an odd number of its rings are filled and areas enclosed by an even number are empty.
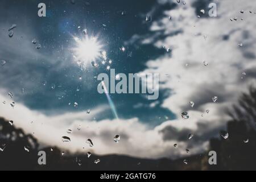
<svg viewBox="0 0 256 182"><path fill-rule="evenodd" d="M76 58L82 63L87 64L95 61L101 55L103 46L96 36L85 35L82 39L77 37L73 37L73 39L76 41L76 47L73 48L73 51Z"/></svg>

